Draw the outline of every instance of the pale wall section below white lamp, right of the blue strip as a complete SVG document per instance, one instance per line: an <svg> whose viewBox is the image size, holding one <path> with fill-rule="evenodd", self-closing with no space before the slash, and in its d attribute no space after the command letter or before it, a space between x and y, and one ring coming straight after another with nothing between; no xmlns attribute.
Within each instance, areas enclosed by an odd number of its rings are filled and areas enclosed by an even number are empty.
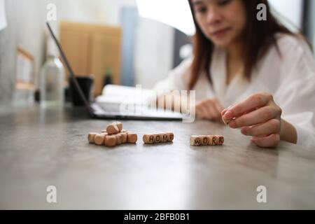
<svg viewBox="0 0 315 224"><path fill-rule="evenodd" d="M136 39L135 84L151 88L158 80L166 78L172 69L174 29L153 20L141 19L138 21Z"/></svg>

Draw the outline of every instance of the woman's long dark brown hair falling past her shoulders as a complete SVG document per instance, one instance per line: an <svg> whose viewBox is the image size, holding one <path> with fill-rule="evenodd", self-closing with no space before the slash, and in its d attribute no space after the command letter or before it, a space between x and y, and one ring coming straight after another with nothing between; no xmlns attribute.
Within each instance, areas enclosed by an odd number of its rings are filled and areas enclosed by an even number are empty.
<svg viewBox="0 0 315 224"><path fill-rule="evenodd" d="M194 43L194 58L190 67L190 82L189 89L192 90L201 73L205 73L209 78L210 83L211 73L211 56L214 51L214 44L202 33L199 25L195 20L195 12L192 0L188 0L190 9L193 13L195 22L196 33L193 38ZM274 18L270 12L269 3L267 0L242 0L246 10L246 26L243 34L243 41L246 43L244 46L244 77L248 80L251 79L251 73L258 64L260 59L265 55L270 46L276 46L279 52L278 45L276 44L276 33L295 35L289 29L281 25L279 21ZM267 7L267 20L259 21L256 18L258 13L258 4L263 3ZM280 52L279 52L280 53Z"/></svg>

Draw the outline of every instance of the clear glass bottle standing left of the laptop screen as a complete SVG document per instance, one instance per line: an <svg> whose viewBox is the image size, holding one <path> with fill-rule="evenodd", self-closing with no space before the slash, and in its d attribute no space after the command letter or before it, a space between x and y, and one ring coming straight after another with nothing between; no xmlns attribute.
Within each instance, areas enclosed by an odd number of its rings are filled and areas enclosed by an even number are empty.
<svg viewBox="0 0 315 224"><path fill-rule="evenodd" d="M48 40L47 59L41 68L41 106L64 105L64 66L57 57L55 42Z"/></svg>

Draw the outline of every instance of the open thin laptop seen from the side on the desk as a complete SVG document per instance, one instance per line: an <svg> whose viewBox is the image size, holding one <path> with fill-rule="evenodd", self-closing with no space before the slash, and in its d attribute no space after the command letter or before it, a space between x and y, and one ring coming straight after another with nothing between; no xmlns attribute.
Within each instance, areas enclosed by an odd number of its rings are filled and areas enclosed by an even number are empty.
<svg viewBox="0 0 315 224"><path fill-rule="evenodd" d="M183 120L183 114L164 109L150 109L148 108L148 106L141 106L141 108L139 108L139 105L134 105L135 107L137 107L137 110L128 110L128 113L122 113L120 109L120 104L99 104L97 102L89 102L89 100L86 99L85 95L83 94L80 85L78 85L76 76L74 75L69 62L66 59L66 55L64 55L64 51L62 50L59 41L57 40L49 23L46 22L46 24L53 40L57 45L60 56L62 57L64 64L66 65L66 69L69 71L73 86L78 92L80 99L83 101L88 113L92 118L125 120ZM126 106L132 107L133 105Z"/></svg>

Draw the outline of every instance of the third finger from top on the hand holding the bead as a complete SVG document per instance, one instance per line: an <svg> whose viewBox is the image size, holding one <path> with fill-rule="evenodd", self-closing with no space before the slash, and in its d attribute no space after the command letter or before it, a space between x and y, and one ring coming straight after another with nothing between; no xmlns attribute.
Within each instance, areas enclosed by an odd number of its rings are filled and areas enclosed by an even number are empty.
<svg viewBox="0 0 315 224"><path fill-rule="evenodd" d="M241 134L260 137L280 132L280 121L277 119L268 120L266 123L241 128Z"/></svg>

